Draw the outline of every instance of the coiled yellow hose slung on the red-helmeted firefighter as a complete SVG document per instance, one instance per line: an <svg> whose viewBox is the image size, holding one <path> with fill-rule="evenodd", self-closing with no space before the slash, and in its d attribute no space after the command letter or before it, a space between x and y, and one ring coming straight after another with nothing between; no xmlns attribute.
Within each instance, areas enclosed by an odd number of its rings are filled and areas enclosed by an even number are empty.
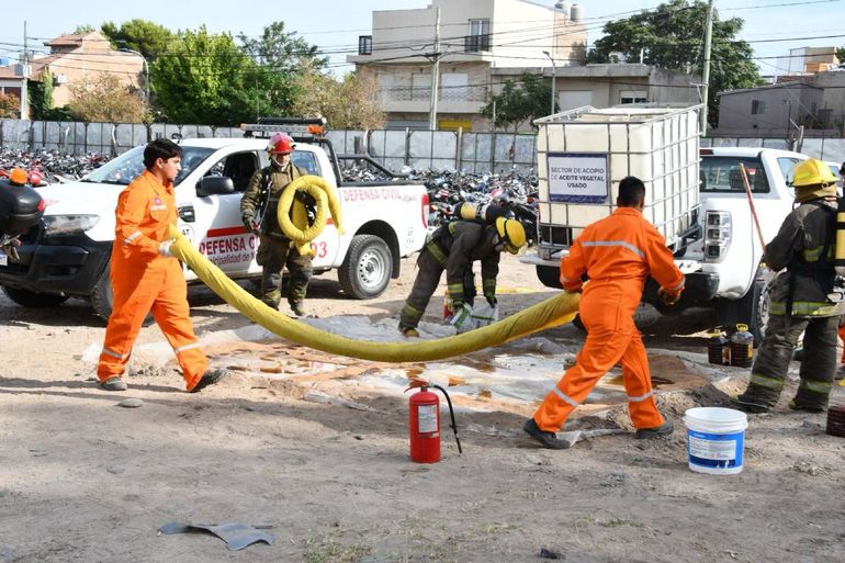
<svg viewBox="0 0 845 563"><path fill-rule="evenodd" d="M305 205L294 200L296 192L305 192L316 202L316 217L314 224L308 226L308 213ZM282 233L296 245L301 256L314 254L311 241L323 233L326 226L326 212L331 213L338 235L343 234L342 218L340 215L340 200L331 184L319 176L301 176L292 181L282 192L277 209L277 218Z"/></svg>

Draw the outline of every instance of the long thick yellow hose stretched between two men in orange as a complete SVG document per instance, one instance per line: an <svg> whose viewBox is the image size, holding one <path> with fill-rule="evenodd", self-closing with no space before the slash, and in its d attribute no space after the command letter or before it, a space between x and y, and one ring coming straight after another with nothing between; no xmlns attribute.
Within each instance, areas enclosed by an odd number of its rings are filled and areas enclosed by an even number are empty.
<svg viewBox="0 0 845 563"><path fill-rule="evenodd" d="M462 335L436 340L378 342L353 340L288 318L250 295L200 254L179 230L170 227L173 256L182 260L226 303L250 320L302 346L337 356L382 362L431 361L498 346L533 333L568 323L578 312L578 294L561 293L504 320Z"/></svg>

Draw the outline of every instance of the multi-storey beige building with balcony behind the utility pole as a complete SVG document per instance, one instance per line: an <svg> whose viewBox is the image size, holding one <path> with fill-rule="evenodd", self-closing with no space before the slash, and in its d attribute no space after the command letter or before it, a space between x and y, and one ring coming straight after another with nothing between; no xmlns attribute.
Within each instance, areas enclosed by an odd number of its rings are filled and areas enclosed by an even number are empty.
<svg viewBox="0 0 845 563"><path fill-rule="evenodd" d="M487 131L481 110L500 89L499 69L583 64L583 12L566 2L432 0L421 9L375 11L372 34L359 38L359 54L348 61L375 75L391 128L428 128L438 10L440 130Z"/></svg>

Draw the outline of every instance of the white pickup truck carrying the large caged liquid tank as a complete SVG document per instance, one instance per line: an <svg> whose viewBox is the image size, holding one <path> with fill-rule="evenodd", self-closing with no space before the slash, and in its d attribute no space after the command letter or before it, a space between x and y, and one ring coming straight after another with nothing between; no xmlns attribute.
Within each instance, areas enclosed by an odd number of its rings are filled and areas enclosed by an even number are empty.
<svg viewBox="0 0 845 563"><path fill-rule="evenodd" d="M760 148L702 148L697 236L679 244L675 262L687 277L680 302L666 309L660 304L656 284L646 284L643 301L667 315L690 307L713 311L713 325L732 327L748 323L755 341L763 338L767 315L767 284L771 272L760 268L763 249L754 226L748 198L740 176L742 162L748 173L754 207L763 238L768 243L792 210L793 191L787 177L805 155ZM647 198L647 194L646 194ZM537 266L540 281L560 288L560 259L567 251L552 245L555 225L540 219L537 254L522 260Z"/></svg>

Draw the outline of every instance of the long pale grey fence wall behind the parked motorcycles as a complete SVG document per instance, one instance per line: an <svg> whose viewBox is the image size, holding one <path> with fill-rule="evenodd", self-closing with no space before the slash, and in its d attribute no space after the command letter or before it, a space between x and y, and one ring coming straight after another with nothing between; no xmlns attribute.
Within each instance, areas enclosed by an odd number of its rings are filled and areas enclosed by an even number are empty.
<svg viewBox="0 0 845 563"><path fill-rule="evenodd" d="M80 123L0 120L0 146L16 150L56 150L84 155L119 155L155 138L179 134L192 137L240 137L237 127L167 123ZM469 172L500 172L512 167L537 168L536 135L512 133L464 133L448 131L330 131L327 137L339 154L369 153L386 168L403 167ZM782 138L702 138L702 147L790 148ZM795 150L842 162L845 139L804 138Z"/></svg>

